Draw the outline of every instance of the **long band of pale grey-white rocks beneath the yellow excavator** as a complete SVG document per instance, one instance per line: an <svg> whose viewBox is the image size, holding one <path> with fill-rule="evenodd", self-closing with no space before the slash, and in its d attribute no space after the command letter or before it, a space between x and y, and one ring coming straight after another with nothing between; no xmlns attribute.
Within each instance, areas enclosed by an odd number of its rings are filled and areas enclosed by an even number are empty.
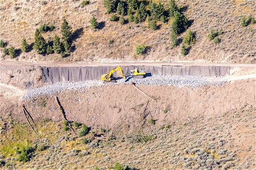
<svg viewBox="0 0 256 170"><path fill-rule="evenodd" d="M205 76L176 76L176 75L153 75L148 76L143 79L136 78L126 78L117 80L117 83L114 84L129 84L134 82L135 84L152 84L152 85L163 85L163 86L176 86L182 88L184 86L197 88L201 86L221 86L226 83L224 80L214 80ZM71 90L84 90L90 87L102 87L102 86L112 86L112 84L104 84L102 80L87 80L85 82L64 82L51 84L39 88L34 88L29 90L22 99L30 99L35 96L51 95L54 93L59 93L62 91L71 91Z"/></svg>

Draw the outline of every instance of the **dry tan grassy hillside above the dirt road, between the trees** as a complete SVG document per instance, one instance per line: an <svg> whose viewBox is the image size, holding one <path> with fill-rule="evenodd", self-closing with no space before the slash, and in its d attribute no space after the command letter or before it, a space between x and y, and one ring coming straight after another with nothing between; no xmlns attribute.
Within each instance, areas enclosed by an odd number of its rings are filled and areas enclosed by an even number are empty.
<svg viewBox="0 0 256 170"><path fill-rule="evenodd" d="M147 28L145 22L135 24L111 22L106 14L103 1L90 0L82 6L82 1L1 1L0 39L7 41L7 47L20 48L22 37L29 44L34 42L35 29L40 24L53 24L52 32L42 33L46 41L52 41L55 35L61 36L60 25L66 18L72 26L75 45L70 56L62 58L60 54L42 56L34 50L21 53L18 61L54 61L54 62L111 62L111 61L197 61L197 62L243 62L255 63L255 24L241 27L241 16L255 16L255 1L177 1L183 14L192 23L196 43L187 56L180 53L181 44L176 48L170 45L171 23L158 22L159 29ZM162 1L167 9L168 1ZM90 27L90 19L95 16L100 22L99 29ZM128 16L124 16L127 20ZM215 44L208 39L210 29L222 30L221 42ZM179 39L184 36L182 33ZM113 40L113 43L109 43ZM137 45L145 43L146 53L135 54ZM1 50L2 51L2 50ZM0 52L1 60L9 60Z"/></svg>

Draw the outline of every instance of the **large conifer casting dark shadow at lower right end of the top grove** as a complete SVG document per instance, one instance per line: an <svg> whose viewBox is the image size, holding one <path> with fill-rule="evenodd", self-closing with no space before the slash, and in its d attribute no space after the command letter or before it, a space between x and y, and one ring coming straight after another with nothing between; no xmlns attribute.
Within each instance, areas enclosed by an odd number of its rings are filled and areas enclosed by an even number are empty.
<svg viewBox="0 0 256 170"><path fill-rule="evenodd" d="M181 32L185 31L188 26L188 19L185 15L180 14L180 12L174 12L174 21L172 22L172 30L180 35Z"/></svg>

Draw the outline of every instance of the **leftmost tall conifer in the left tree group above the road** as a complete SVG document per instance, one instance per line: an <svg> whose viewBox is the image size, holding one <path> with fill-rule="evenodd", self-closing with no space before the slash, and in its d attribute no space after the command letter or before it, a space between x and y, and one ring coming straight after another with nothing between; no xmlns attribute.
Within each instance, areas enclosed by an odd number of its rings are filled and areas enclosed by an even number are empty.
<svg viewBox="0 0 256 170"><path fill-rule="evenodd" d="M44 37L40 34L39 29L36 29L34 50L38 54L43 54L46 52L46 48L47 48L46 40L44 40Z"/></svg>

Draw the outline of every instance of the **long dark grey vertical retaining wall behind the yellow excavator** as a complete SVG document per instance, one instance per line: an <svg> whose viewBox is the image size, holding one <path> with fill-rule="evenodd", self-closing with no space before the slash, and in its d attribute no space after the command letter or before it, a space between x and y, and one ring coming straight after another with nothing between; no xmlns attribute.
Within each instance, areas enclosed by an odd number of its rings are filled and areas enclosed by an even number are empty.
<svg viewBox="0 0 256 170"><path fill-rule="evenodd" d="M224 76L230 74L229 66L121 66L125 75L136 67L146 73L162 75ZM42 80L46 83L80 82L100 80L102 74L108 74L115 66L98 67L42 67ZM119 71L114 76L120 76Z"/></svg>

